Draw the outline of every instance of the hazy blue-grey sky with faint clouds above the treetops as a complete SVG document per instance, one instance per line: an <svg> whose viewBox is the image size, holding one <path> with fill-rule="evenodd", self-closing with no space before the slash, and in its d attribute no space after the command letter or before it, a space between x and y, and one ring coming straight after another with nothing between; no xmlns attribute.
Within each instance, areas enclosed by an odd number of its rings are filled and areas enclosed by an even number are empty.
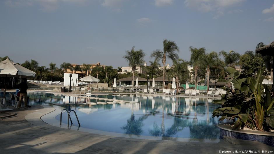
<svg viewBox="0 0 274 154"><path fill-rule="evenodd" d="M149 65L168 39L188 61L190 46L254 51L274 41L273 27L274 0L1 0L0 56L117 68L135 46Z"/></svg>

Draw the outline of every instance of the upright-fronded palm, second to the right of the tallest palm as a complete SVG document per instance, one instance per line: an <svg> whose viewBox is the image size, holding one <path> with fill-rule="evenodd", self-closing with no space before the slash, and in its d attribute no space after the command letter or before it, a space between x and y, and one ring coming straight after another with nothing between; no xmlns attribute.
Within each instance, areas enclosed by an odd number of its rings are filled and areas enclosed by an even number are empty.
<svg viewBox="0 0 274 154"><path fill-rule="evenodd" d="M190 64L193 67L194 70L194 79L195 79L195 89L197 88L197 74L198 74L198 69L203 65L203 55L205 55L205 48L195 48L190 46L189 47L190 51Z"/></svg>

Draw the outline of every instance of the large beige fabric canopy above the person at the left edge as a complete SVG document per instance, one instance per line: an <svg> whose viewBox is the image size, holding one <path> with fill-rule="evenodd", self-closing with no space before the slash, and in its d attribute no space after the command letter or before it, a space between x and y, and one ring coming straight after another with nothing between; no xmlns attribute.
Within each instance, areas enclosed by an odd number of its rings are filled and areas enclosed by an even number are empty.
<svg viewBox="0 0 274 154"><path fill-rule="evenodd" d="M6 59L0 62L0 76L1 77L35 77L36 73L24 68L23 66Z"/></svg>

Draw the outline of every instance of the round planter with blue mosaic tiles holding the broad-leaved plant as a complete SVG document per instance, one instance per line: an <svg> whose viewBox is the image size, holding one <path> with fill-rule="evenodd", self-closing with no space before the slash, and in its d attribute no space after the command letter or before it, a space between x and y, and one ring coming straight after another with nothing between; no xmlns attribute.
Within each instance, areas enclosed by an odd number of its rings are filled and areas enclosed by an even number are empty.
<svg viewBox="0 0 274 154"><path fill-rule="evenodd" d="M220 128L220 137L224 136L233 137L236 139L244 139L249 141L258 141L269 146L274 146L274 133L272 132L259 132L252 130L232 130L228 123L219 123L217 126Z"/></svg>

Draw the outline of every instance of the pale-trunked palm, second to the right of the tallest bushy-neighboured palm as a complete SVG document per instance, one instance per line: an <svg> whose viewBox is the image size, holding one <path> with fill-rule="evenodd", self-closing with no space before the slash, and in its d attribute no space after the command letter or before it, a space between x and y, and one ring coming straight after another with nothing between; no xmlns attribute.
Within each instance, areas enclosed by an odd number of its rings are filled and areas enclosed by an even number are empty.
<svg viewBox="0 0 274 154"><path fill-rule="evenodd" d="M217 62L219 61L219 57L217 52L210 52L205 54L204 56L204 65L206 66L206 73L207 73L207 91L209 91L209 77L210 77L210 71L212 68L216 67Z"/></svg>

